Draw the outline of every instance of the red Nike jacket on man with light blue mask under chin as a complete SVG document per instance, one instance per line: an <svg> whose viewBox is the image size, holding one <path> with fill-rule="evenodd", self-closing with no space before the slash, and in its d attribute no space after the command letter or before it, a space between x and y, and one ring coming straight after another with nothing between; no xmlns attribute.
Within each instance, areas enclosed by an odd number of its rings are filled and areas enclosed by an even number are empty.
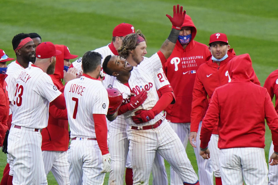
<svg viewBox="0 0 278 185"><path fill-rule="evenodd" d="M206 102L211 101L211 96L215 88L231 82L227 64L235 57L234 49L229 49L227 54L228 58L221 61L219 66L211 60L211 57L207 58L206 62L199 67L196 73L193 88L190 132L198 132L199 123L203 118L204 112L207 110ZM260 85L257 76L255 76L255 84ZM213 134L218 134L217 126L214 128Z"/></svg>

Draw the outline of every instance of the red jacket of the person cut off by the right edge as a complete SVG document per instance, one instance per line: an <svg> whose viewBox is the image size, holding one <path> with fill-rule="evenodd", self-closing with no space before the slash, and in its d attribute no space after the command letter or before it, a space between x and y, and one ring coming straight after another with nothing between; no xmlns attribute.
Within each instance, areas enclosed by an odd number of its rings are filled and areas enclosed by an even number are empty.
<svg viewBox="0 0 278 185"><path fill-rule="evenodd" d="M278 69L270 73L264 82L264 88L267 89L270 98L275 95L275 110L278 113Z"/></svg>

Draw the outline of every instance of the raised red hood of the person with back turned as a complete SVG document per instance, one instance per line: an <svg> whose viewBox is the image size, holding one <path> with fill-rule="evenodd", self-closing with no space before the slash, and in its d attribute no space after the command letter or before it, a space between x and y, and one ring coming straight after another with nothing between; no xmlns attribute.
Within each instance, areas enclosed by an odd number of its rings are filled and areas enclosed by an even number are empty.
<svg viewBox="0 0 278 185"><path fill-rule="evenodd" d="M227 67L231 82L255 81L255 71L248 53L233 57Z"/></svg>

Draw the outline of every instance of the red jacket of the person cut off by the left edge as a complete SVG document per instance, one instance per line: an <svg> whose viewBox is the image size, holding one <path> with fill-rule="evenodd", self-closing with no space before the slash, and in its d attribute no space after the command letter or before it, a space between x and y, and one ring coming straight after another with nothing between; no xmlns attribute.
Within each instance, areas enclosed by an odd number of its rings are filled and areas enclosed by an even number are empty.
<svg viewBox="0 0 278 185"><path fill-rule="evenodd" d="M7 83L5 78L8 75L0 74L0 147L3 144L6 131L8 130L7 121L9 118L9 98L8 98L8 91L7 91Z"/></svg>

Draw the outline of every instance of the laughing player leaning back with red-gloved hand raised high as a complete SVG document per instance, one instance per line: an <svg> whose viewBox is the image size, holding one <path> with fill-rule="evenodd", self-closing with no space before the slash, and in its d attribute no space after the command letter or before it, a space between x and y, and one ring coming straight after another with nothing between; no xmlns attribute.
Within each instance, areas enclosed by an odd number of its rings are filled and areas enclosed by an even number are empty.
<svg viewBox="0 0 278 185"><path fill-rule="evenodd" d="M184 20L185 11L182 11L182 7L177 5L177 12L175 6L173 10L173 18L167 15L173 24L171 33L160 51L149 60L144 60L134 68L119 56L107 56L103 62L103 70L117 77L119 83L134 90L135 94L148 91L148 97L140 107L124 113L125 121L130 125L127 128L127 136L131 152L133 184L148 184L156 151L178 172L183 184L199 184L181 141L162 114L165 106L173 100L173 94L169 93L171 98L167 102L159 101L153 81L153 72L162 68L161 62L166 62L166 58L173 51ZM145 44L143 41L139 45Z"/></svg>

